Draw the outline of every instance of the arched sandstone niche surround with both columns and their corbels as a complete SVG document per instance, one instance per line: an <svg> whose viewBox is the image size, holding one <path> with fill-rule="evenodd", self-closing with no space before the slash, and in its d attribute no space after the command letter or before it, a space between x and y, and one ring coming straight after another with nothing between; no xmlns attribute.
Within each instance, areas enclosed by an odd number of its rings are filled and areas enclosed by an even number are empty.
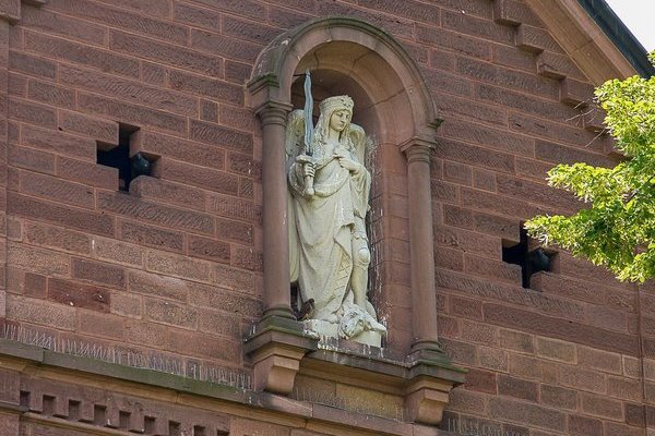
<svg viewBox="0 0 655 436"><path fill-rule="evenodd" d="M403 389L408 415L438 422L440 413L431 411L442 410L450 388L463 380L438 342L430 153L440 120L418 68L403 47L383 31L354 19L320 19L279 35L260 53L248 84L250 106L262 125L264 316L246 342L246 352L254 363L255 386L289 393L300 361L317 347L297 330L299 323L290 311L288 268L285 128L290 110L302 106L298 74L306 69L312 73L317 102L340 94L354 98L354 121L373 135L381 155L376 159L383 162L380 172L402 174L403 182L393 187L404 191L406 199L401 215L409 246L405 266L410 280L405 281L410 281L410 301L405 304L406 316L395 320L405 323L408 331L404 363L398 363L397 370L406 373ZM378 187L382 197L391 191L385 186L394 184L384 177L382 187ZM382 225L393 227L390 220ZM416 370L419 366L426 373ZM437 377L430 386L418 383L420 377L430 378L428 373L434 368L439 374L448 373L448 379ZM441 392L442 399L436 400L428 391ZM426 404L437 409L422 409ZM419 419L421 411L430 412Z"/></svg>

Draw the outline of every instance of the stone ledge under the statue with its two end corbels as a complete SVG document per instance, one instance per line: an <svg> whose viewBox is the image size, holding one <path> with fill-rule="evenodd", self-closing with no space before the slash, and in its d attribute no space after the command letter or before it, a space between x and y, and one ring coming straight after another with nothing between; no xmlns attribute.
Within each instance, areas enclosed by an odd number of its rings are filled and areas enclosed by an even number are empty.
<svg viewBox="0 0 655 436"><path fill-rule="evenodd" d="M319 341L300 323L275 316L253 326L245 342L258 391L288 396L296 375L302 374L372 395L395 396L404 402L408 421L429 425L441 422L451 389L464 383L466 373L441 350L420 350L404 360L385 358L385 350L377 347L337 338Z"/></svg>

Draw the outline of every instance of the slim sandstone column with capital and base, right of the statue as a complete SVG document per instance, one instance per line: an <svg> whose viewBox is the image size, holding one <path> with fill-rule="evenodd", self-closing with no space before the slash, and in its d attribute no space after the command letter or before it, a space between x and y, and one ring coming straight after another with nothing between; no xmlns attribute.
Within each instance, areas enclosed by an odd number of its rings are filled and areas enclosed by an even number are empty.
<svg viewBox="0 0 655 436"><path fill-rule="evenodd" d="M434 293L434 237L430 154L433 144L414 138L401 149L407 156L409 205L409 262L412 274L413 352L440 350Z"/></svg>

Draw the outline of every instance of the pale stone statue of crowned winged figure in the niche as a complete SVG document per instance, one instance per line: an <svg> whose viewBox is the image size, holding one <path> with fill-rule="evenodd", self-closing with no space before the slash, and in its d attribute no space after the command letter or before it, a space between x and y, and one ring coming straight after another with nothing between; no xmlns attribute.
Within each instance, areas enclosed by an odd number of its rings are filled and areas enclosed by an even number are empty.
<svg viewBox="0 0 655 436"><path fill-rule="evenodd" d="M364 129L350 123L353 106L348 96L324 99L309 147L302 135L305 120L311 117L303 117L302 110L289 114L290 276L298 282L298 305L306 307L313 300L311 313L305 315L310 330L380 347L386 328L367 299L368 141Z"/></svg>

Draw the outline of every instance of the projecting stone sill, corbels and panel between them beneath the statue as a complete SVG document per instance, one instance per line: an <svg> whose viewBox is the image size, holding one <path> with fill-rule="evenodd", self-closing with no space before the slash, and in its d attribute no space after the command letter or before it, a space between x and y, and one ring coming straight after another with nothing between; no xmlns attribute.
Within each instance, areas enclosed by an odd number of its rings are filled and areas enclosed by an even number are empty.
<svg viewBox="0 0 655 436"><path fill-rule="evenodd" d="M386 355L376 346L380 334L344 340L337 329L337 324L315 319L262 319L245 343L255 390L396 421L441 421L451 389L464 382L464 370L439 349Z"/></svg>

